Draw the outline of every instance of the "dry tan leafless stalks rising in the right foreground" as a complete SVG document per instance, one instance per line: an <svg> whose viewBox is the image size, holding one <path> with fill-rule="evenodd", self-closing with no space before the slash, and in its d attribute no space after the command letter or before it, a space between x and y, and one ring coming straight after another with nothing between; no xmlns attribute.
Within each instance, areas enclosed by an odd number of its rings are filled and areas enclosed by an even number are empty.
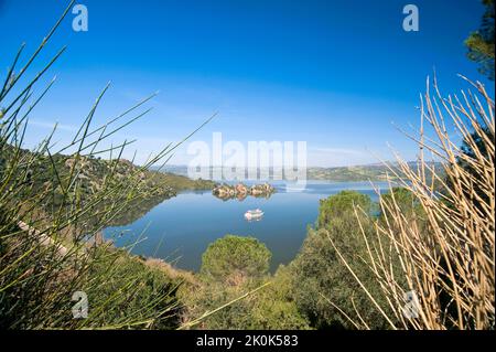
<svg viewBox="0 0 496 352"><path fill-rule="evenodd" d="M360 285L371 309L392 329L495 327L495 104L481 83L462 78L474 92L446 98L435 79L430 92L428 79L420 131L409 136L419 146L418 164L397 154L398 167L389 166L421 211L406 214L391 192L380 201L382 220L375 222L376 236L370 239L364 233L368 257L363 259L382 297ZM450 126L455 134L449 132ZM445 175L427 154L442 161ZM359 281L348 258L334 248ZM367 328L359 318L353 321Z"/></svg>

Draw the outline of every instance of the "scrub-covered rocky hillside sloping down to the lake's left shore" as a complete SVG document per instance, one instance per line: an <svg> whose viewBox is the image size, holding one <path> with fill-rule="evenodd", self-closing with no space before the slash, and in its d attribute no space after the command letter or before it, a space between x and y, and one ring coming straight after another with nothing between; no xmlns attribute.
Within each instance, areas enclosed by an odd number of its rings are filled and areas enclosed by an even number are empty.
<svg viewBox="0 0 496 352"><path fill-rule="evenodd" d="M10 146L2 150L3 154L0 154L0 172L3 172L9 167L8 160L15 152L15 149ZM26 167L29 168L28 174L31 177L29 177L26 182L31 183L30 192L34 194L47 192L46 194L50 194L46 198L44 207L61 205L63 191L61 186L54 186L54 184L60 184L58 180L67 180L69 178L76 157L54 154L50 158L39 153L34 154L25 149L20 149L19 154L19 158L24 160L22 163L29 164ZM56 170L55 173L53 169ZM83 203L86 199L90 199L93 194L100 191L106 182L108 184L109 182L115 183L129 180L128 184L138 191L140 199L125 213L119 214L120 218L116 218L112 225L128 223L133 218L140 217L151 207L165 199L176 195L180 191L212 190L215 185L213 181L191 180L184 175L144 170L126 159L104 160L79 156L74 170L79 186L78 195ZM54 179L54 174L57 175L57 179ZM134 181L131 181L131 179ZM123 182L122 184L127 183ZM20 195L28 196L28 194ZM105 203L101 206L105 206Z"/></svg>

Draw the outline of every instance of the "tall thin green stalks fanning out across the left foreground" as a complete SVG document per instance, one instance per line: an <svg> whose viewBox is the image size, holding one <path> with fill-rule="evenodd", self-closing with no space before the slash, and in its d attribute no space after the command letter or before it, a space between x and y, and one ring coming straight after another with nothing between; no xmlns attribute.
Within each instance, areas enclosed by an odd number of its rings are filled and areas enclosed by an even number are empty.
<svg viewBox="0 0 496 352"><path fill-rule="evenodd" d="M95 128L94 116L106 86L71 142L55 149L54 127L34 150L23 149L30 114L54 81L37 97L33 87L64 49L31 79L26 75L73 4L18 70L24 50L21 45L0 85L0 327L174 328L174 292L180 282L145 267L126 250L108 243L95 245L95 237L111 218L166 186L144 188L143 172L166 162L185 140L165 146L125 178L117 174L119 159L131 141L101 147L103 141L144 116L150 109L140 109L154 95ZM21 77L26 81L23 85ZM58 157L63 152L69 153L71 166L62 173ZM108 168L101 184L88 194L82 189L82 170L100 154L110 156L101 161ZM87 319L73 318L72 297L78 290L89 299Z"/></svg>

